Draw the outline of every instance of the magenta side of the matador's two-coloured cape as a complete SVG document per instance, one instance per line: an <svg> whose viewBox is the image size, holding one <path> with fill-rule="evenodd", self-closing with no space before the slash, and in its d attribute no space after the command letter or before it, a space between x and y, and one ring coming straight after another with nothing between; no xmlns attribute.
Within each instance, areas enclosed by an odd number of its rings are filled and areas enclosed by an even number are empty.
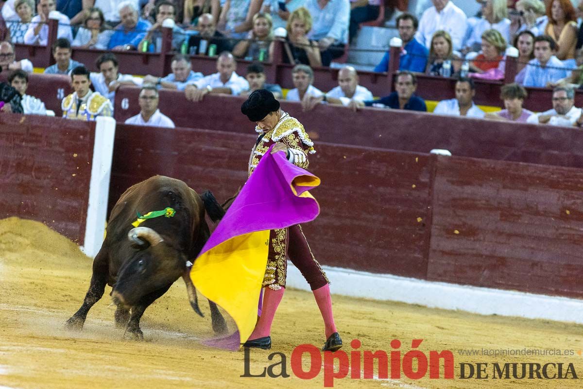
<svg viewBox="0 0 583 389"><path fill-rule="evenodd" d="M270 148L241 188L201 254L235 236L314 220L319 214L318 202L313 198L298 197L313 187L296 187L298 195L291 191L291 182L299 176L314 177L314 174L289 163L284 153L271 154Z"/></svg>

